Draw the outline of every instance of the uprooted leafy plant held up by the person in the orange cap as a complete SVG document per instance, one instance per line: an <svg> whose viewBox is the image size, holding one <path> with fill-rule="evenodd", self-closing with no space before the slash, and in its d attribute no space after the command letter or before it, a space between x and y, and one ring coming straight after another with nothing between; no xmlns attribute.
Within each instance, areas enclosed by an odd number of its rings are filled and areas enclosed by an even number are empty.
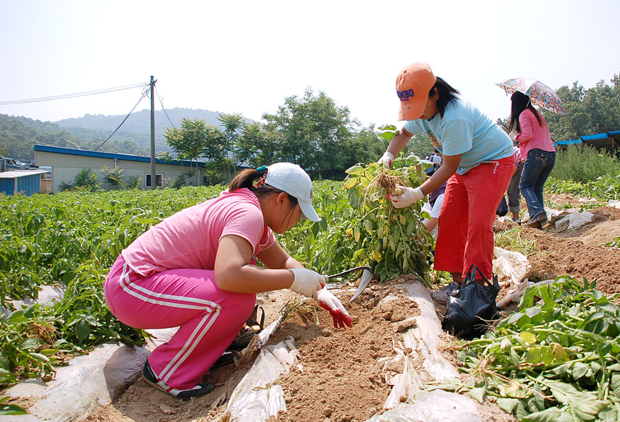
<svg viewBox="0 0 620 422"><path fill-rule="evenodd" d="M422 201L403 209L394 208L388 195L400 195L402 186L419 186L426 179L424 164L418 157L396 158L391 168L378 163L358 163L347 170L344 189L354 218L345 233L357 250L353 258L368 264L380 279L394 279L402 273L413 273L428 284L428 254L433 237L424 227Z"/></svg>

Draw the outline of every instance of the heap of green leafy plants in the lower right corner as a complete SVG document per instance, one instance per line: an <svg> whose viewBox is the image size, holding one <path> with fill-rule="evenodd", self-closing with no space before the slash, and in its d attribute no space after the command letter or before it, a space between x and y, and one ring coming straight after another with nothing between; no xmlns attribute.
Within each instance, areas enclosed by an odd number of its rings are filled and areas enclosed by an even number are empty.
<svg viewBox="0 0 620 422"><path fill-rule="evenodd" d="M464 345L459 389L520 421L620 420L620 307L572 277L526 290L495 332Z"/></svg>

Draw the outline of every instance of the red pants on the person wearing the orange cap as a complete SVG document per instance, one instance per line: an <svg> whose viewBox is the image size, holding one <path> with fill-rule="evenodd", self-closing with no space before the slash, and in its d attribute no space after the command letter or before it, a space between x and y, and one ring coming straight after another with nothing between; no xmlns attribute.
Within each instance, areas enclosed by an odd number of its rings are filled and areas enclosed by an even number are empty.
<svg viewBox="0 0 620 422"><path fill-rule="evenodd" d="M435 270L462 272L471 264L487 279L493 275L493 222L508 189L515 158L482 163L448 179L437 222Z"/></svg>

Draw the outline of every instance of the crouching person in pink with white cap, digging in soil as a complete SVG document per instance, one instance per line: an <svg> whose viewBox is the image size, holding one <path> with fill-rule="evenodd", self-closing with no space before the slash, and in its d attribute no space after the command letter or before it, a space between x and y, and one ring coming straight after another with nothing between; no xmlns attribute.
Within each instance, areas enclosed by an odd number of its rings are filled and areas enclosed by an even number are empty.
<svg viewBox="0 0 620 422"><path fill-rule="evenodd" d="M181 210L133 241L105 280L105 301L134 328L179 327L148 357L143 378L179 399L208 394L201 382L240 334L256 293L289 288L351 327L325 278L283 250L273 232L319 221L312 182L298 165L243 170L218 198ZM265 268L256 265L260 259Z"/></svg>

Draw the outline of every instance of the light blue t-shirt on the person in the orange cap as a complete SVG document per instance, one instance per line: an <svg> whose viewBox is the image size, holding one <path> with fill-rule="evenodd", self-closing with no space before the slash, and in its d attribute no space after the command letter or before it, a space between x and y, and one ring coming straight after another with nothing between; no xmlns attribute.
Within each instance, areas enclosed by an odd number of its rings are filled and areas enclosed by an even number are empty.
<svg viewBox="0 0 620 422"><path fill-rule="evenodd" d="M444 117L410 120L404 128L411 134L426 134L444 155L461 156L457 174L465 174L484 161L499 160L515 154L513 143L486 114L467 101L448 103Z"/></svg>

